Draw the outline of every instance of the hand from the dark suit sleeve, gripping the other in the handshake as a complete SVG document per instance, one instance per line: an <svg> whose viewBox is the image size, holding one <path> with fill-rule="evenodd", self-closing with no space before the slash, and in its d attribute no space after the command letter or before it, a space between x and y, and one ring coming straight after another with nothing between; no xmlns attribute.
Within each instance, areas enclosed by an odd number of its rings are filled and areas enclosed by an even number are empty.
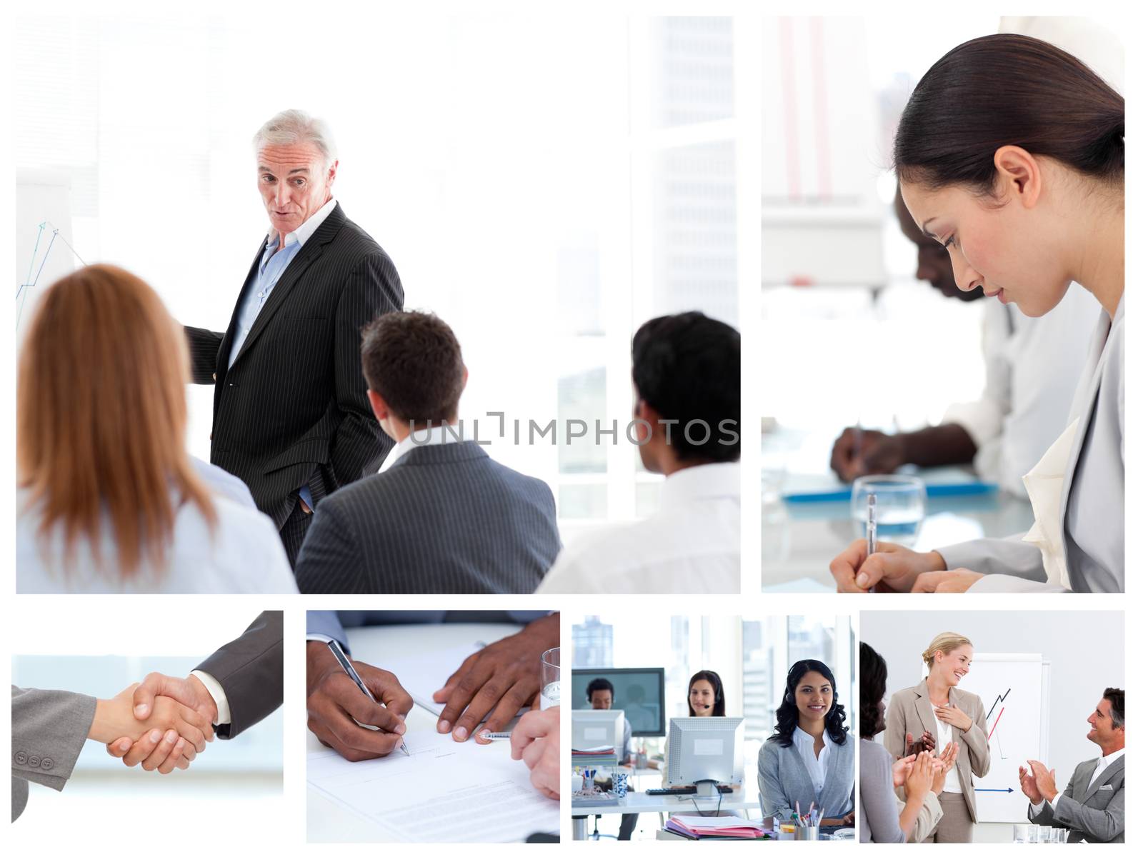
<svg viewBox="0 0 1143 857"><path fill-rule="evenodd" d="M218 716L218 706L206 687L194 675L178 679L162 673L151 673L131 695L131 713L136 721L146 721L152 712L158 712L171 702L195 712L201 723L202 740L192 743L175 729L166 732L159 729L145 731L134 739L128 735L107 744L107 753L122 759L123 764L135 767L142 762L143 770L170 774L175 768L185 770L198 753L206 750L207 740L214 740L211 723Z"/></svg>

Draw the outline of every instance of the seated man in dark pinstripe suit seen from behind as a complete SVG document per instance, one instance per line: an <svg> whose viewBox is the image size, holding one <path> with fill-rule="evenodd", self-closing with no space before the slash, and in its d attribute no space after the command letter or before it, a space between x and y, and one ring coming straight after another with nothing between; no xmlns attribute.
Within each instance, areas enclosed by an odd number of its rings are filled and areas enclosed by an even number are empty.
<svg viewBox="0 0 1143 857"><path fill-rule="evenodd" d="M530 593L560 551L555 500L456 427L469 373L435 315L365 330L369 403L397 448L326 499L297 561L302 592Z"/></svg>

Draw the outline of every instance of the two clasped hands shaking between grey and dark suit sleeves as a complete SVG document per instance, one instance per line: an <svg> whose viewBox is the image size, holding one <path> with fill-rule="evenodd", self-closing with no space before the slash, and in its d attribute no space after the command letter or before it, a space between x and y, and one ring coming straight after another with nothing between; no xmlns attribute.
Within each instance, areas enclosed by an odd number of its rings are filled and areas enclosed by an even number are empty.
<svg viewBox="0 0 1143 857"><path fill-rule="evenodd" d="M170 774L186 769L214 740L218 706L195 675L151 673L111 699L98 699L87 737L123 764Z"/></svg>

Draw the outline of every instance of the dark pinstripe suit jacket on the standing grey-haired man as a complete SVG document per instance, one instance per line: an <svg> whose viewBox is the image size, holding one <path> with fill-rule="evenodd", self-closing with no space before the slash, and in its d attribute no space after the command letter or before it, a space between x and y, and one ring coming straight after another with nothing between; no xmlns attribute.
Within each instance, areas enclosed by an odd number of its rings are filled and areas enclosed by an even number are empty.
<svg viewBox="0 0 1143 857"><path fill-rule="evenodd" d="M377 425L361 375L361 328L405 302L397 269L341 203L295 256L226 367L246 290L225 334L186 328L191 375L214 384L210 463L250 488L281 529L310 486L314 504L375 473L392 441Z"/></svg>

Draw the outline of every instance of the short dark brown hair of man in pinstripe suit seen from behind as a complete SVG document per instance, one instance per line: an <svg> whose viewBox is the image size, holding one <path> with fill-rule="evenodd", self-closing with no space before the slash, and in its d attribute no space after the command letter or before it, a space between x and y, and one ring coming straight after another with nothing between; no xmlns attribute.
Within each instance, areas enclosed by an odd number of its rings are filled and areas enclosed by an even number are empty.
<svg viewBox="0 0 1143 857"><path fill-rule="evenodd" d="M361 369L394 416L413 424L456 417L464 390L461 344L427 312L387 312L361 331Z"/></svg>

